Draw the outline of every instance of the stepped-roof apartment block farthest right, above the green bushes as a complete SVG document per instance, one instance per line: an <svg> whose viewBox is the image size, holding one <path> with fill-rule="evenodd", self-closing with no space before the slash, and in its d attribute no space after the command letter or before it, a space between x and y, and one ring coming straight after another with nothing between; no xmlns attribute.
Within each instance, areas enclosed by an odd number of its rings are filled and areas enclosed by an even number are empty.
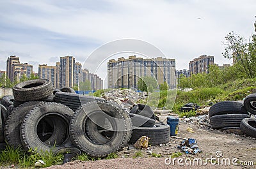
<svg viewBox="0 0 256 169"><path fill-rule="evenodd" d="M214 57L211 55L201 55L189 62L190 74L209 73L209 65L214 64Z"/></svg>

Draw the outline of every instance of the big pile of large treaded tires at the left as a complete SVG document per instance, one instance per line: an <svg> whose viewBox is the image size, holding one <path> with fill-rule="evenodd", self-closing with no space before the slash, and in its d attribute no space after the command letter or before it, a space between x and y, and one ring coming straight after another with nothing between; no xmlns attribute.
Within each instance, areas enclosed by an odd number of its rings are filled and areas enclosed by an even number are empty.
<svg viewBox="0 0 256 169"><path fill-rule="evenodd" d="M103 157L127 144L132 133L131 119L122 109L102 98L79 97L69 87L53 89L49 80L42 79L15 85L13 96L1 99L0 117L1 142L38 153L73 147ZM97 128L106 119L110 138Z"/></svg>

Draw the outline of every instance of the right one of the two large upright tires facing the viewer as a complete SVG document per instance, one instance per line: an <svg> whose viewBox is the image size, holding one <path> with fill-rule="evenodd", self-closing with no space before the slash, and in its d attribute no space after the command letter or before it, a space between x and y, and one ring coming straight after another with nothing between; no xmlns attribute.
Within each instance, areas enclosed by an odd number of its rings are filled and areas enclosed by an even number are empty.
<svg viewBox="0 0 256 169"><path fill-rule="evenodd" d="M87 132L92 131L93 126L85 128L85 124L94 119L93 115L103 114L115 117L111 118L111 120L113 120L111 124L114 126L113 130L115 130L115 132L108 142L95 143L86 135ZM70 121L70 138L72 143L81 151L86 152L86 154L93 157L105 157L111 152L117 151L127 143L128 138L131 137L131 129L131 119L125 118L123 110L113 107L113 105L106 101L93 101L83 104L82 107L76 110Z"/></svg>

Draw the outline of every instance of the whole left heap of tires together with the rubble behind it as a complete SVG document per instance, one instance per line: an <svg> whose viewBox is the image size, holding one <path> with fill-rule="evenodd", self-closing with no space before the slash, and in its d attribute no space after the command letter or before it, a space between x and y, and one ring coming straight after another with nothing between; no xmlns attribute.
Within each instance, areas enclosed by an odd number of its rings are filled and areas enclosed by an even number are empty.
<svg viewBox="0 0 256 169"><path fill-rule="evenodd" d="M131 106L141 96L124 90L121 98L120 93L107 92L104 98L111 100L107 101L79 96L70 87L53 89L49 80L21 82L13 87L13 96L1 99L0 143L38 153L83 151L104 157L141 136L148 136L150 145L169 142L170 126L156 122L150 107ZM116 99L120 105L113 102Z"/></svg>

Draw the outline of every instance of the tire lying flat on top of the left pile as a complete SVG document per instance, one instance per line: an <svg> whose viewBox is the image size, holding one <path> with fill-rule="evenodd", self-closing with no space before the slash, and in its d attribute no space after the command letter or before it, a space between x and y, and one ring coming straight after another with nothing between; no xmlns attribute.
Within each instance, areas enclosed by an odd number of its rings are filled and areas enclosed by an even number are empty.
<svg viewBox="0 0 256 169"><path fill-rule="evenodd" d="M47 98L53 93L52 82L47 79L35 79L21 82L12 88L17 101L36 101Z"/></svg>

